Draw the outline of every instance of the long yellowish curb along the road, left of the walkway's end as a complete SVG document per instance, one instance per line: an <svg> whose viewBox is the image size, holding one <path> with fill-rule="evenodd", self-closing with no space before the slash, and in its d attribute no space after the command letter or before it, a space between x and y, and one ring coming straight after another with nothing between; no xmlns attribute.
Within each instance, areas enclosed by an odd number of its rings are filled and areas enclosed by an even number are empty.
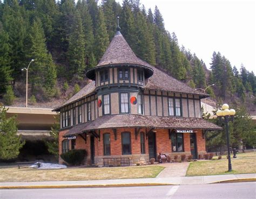
<svg viewBox="0 0 256 199"><path fill-rule="evenodd" d="M39 185L39 186L2 186L1 189L68 189L68 188L103 188L103 187L145 187L171 186L169 183L132 183L132 184L92 184L92 185Z"/></svg>

